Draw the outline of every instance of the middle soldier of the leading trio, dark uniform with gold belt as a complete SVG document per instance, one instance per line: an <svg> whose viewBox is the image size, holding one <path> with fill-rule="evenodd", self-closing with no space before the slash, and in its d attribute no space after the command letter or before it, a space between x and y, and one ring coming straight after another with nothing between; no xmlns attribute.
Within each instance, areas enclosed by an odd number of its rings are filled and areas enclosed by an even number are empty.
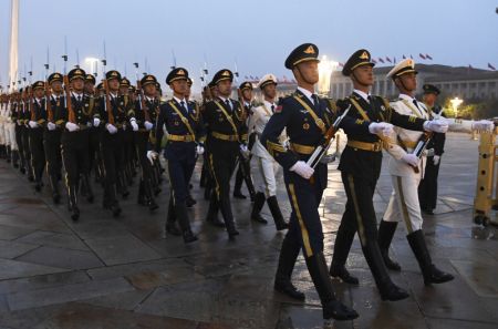
<svg viewBox="0 0 498 329"><path fill-rule="evenodd" d="M422 131L425 120L415 116L401 115L391 109L388 101L370 94L373 84L374 63L370 52L361 49L354 52L343 68L343 75L350 76L354 90L351 96L338 102L343 111L351 110L347 116L356 121L372 124L391 123L408 130ZM373 205L375 186L381 174L382 150L390 147L387 142L392 125L378 134L370 132L347 132L347 145L341 155L339 169L347 195L346 208L334 243L334 254L330 274L343 281L357 285L357 278L352 277L345 268L345 261L355 233L359 233L363 255L372 270L383 300L400 300L408 294L394 285L383 261L377 245L376 217ZM378 235L385 235L386 223L382 222ZM388 225L388 224L387 224Z"/></svg>

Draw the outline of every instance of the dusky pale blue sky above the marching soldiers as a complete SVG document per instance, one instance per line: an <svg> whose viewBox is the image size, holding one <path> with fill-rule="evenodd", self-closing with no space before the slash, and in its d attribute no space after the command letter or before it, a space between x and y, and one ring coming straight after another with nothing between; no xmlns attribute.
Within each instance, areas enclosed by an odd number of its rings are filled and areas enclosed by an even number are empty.
<svg viewBox="0 0 498 329"><path fill-rule="evenodd" d="M76 48L85 56L102 56L108 68L134 80L133 62L164 82L173 63L198 81L205 58L212 74L221 68L243 75L273 72L280 78L287 54L311 41L321 54L339 62L359 48L374 58L428 53L433 63L498 66L496 0L21 0L20 70L33 58L35 78L43 76L46 47L51 64L62 70L64 35L70 63ZM10 0L0 0L0 76L7 80ZM427 62L430 63L430 62ZM85 66L83 66L85 68ZM143 70L141 70L143 71Z"/></svg>

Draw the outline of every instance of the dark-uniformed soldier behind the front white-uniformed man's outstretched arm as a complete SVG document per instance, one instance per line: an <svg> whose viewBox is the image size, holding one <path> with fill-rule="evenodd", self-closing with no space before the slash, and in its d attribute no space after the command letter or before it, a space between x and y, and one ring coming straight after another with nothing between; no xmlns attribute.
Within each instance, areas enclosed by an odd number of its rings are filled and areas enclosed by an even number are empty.
<svg viewBox="0 0 498 329"><path fill-rule="evenodd" d="M430 117L445 116L443 107L436 104L440 91L434 84L424 84L424 104ZM440 156L445 147L446 134L434 134L427 145L427 164L425 175L418 185L418 201L422 212L434 215L437 203L437 176L439 175ZM430 154L429 154L430 153Z"/></svg>

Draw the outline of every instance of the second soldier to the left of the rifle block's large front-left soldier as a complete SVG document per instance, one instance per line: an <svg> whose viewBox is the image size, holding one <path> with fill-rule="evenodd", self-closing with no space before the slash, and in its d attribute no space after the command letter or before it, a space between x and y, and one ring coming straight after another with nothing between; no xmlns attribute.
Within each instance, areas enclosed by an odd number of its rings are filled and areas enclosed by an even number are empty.
<svg viewBox="0 0 498 329"><path fill-rule="evenodd" d="M46 107L44 90L45 83L37 81L32 85L33 97L30 100L30 120L28 122L29 130L29 145L32 156L34 189L40 192L43 186L43 171L45 168L45 153L43 151L43 127L46 125Z"/></svg>

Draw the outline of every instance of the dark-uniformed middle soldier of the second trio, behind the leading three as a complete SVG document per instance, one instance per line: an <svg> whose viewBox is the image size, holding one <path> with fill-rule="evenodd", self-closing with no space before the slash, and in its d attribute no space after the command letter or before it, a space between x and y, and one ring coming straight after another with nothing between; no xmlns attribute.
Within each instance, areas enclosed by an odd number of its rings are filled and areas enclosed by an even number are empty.
<svg viewBox="0 0 498 329"><path fill-rule="evenodd" d="M207 220L218 223L218 209L225 220L229 239L239 234L234 222L230 204L230 178L241 153L248 156L245 136L247 136L246 116L242 105L230 99L234 73L224 69L212 78L218 95L206 104L204 120L209 131L206 144L208 165L214 184Z"/></svg>

